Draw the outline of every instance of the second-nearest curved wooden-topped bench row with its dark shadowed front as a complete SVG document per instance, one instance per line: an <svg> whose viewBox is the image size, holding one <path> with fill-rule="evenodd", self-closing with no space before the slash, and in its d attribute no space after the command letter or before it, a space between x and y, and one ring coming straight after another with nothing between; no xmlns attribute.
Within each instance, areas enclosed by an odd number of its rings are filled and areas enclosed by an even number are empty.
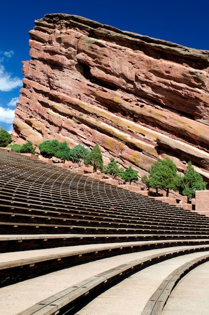
<svg viewBox="0 0 209 315"><path fill-rule="evenodd" d="M203 249L206 251L208 249ZM92 276L82 282L79 282L39 303L20 312L18 315L63 315L76 313L83 305L91 301L95 296L105 289L111 287L118 281L127 276L140 271L148 266L158 262L165 261L180 255L186 255L191 252L201 251L200 249L171 250L169 252L151 255L146 258L131 261L113 269L107 270L95 276ZM205 256L205 260L209 255ZM153 314L157 314L156 312Z"/></svg>

